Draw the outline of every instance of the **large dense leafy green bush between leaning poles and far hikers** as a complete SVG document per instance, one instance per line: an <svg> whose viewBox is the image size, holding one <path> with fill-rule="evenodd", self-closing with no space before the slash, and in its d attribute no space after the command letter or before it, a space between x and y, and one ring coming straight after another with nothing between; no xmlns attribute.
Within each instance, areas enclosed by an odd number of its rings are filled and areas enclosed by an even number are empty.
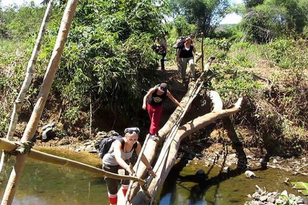
<svg viewBox="0 0 308 205"><path fill-rule="evenodd" d="M103 109L114 115L134 112L155 80L157 55L150 48L163 29L161 8L147 0L80 4L56 73L54 92L69 101L68 107L87 107L90 96L95 106L104 105ZM45 49L44 53L50 52ZM72 110L66 116L76 116ZM130 119L129 115L121 117Z"/></svg>

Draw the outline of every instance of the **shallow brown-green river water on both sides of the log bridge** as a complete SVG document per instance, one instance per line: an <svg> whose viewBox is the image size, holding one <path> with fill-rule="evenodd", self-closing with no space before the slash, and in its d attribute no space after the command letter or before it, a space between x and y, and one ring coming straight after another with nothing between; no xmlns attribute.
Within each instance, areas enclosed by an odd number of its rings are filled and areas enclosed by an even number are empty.
<svg viewBox="0 0 308 205"><path fill-rule="evenodd" d="M254 179L241 174L217 182L213 179L218 176L220 168L211 169L202 166L202 161L198 163L184 167L180 175L171 173L157 197L157 203L243 204L248 200L246 195L255 192L255 185L266 187L269 192L287 190L298 195L291 186L284 184L285 177L289 177L290 181L308 180L304 176L267 169L254 171L257 175ZM198 176L194 174L200 169L208 173L209 180L201 177L202 182L196 183ZM1 197L4 187L0 189ZM28 159L13 204L108 204L108 198L104 180L95 174Z"/></svg>

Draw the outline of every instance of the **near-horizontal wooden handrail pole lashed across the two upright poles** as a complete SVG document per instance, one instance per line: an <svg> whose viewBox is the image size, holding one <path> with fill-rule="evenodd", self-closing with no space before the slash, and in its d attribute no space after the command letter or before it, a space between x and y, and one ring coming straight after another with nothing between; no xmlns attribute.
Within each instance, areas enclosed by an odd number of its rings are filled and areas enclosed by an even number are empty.
<svg viewBox="0 0 308 205"><path fill-rule="evenodd" d="M0 149L5 150L5 151L12 151L15 150L18 146L16 144L14 144L14 142L9 141L7 139L2 139L0 138ZM111 172L106 172L102 169L96 168L96 167L92 167L90 165L86 165L85 163L81 163L78 161L74 161L71 159L67 159L64 157L58 157L52 154L47 154L44 152L40 152L34 149L31 149L28 157L32 158L32 159L36 159L36 160L40 160L40 161L45 161L48 163L54 163L56 165L61 165L61 166L66 166L66 167L72 167L72 168L76 168L76 169L80 169L80 170L84 170L87 172L92 172L95 174L100 174L102 176L106 176L106 177L110 177L113 179L124 179L124 180L132 180L132 181L138 181L141 185L144 185L145 181L135 177L135 176L128 176L128 175L120 175L120 174L114 174Z"/></svg>

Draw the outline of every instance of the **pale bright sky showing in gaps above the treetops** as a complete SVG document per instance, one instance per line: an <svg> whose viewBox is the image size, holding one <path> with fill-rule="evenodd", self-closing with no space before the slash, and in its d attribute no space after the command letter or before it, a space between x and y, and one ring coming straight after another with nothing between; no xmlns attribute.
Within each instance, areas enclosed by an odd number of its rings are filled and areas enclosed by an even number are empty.
<svg viewBox="0 0 308 205"><path fill-rule="evenodd" d="M42 2L42 0L0 0L0 3L2 4L2 6L7 7L11 4L22 5L23 3L31 1L33 1L35 4L40 4ZM243 3L243 0L230 0L230 3L241 4ZM228 14L225 18L223 18L220 24L237 24L241 21L241 19L241 16L237 15L236 13L231 13Z"/></svg>

